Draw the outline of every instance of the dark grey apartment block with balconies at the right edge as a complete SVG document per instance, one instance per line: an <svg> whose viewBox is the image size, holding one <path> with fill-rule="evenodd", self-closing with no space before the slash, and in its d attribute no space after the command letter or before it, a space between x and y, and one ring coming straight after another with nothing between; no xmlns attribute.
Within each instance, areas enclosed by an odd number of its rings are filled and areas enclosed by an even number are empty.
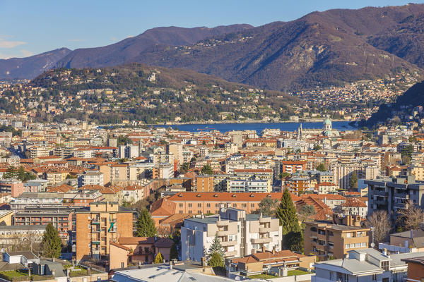
<svg viewBox="0 0 424 282"><path fill-rule="evenodd" d="M397 210L406 207L407 202L424 208L424 182L415 176L399 176L365 180L368 185L368 214L376 210L387 211L396 220Z"/></svg>

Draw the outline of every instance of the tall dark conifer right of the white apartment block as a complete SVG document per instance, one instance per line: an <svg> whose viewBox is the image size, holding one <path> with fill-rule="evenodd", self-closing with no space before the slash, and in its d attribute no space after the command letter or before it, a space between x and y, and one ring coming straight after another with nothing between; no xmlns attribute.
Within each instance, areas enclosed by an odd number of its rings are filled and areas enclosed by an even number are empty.
<svg viewBox="0 0 424 282"><path fill-rule="evenodd" d="M283 227L283 235L300 231L298 214L296 214L295 205L288 189L283 192L281 202L276 209L276 216L280 219L280 225Z"/></svg>

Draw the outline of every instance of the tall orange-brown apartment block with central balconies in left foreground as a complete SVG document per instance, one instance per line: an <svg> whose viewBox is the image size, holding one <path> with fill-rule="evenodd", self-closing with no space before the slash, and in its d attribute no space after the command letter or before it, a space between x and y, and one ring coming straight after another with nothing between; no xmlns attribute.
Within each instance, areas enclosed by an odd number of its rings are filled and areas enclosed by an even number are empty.
<svg viewBox="0 0 424 282"><path fill-rule="evenodd" d="M117 202L93 202L77 209L73 238L76 260L108 259L110 242L132 237L133 215L132 209L119 207Z"/></svg>

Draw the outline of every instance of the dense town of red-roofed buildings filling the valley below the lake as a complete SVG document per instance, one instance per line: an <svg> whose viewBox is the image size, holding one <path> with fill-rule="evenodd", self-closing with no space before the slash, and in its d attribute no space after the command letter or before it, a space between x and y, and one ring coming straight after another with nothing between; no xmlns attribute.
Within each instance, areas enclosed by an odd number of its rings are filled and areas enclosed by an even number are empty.
<svg viewBox="0 0 424 282"><path fill-rule="evenodd" d="M223 133L1 117L3 280L424 273L420 121Z"/></svg>

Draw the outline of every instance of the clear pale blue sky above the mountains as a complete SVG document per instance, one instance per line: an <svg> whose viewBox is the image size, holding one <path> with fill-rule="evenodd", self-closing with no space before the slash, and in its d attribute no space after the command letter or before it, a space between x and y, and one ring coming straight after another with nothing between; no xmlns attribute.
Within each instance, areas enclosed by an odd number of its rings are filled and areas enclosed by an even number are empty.
<svg viewBox="0 0 424 282"><path fill-rule="evenodd" d="M399 6L401 0L0 0L0 59L100 47L153 27L258 26L313 11ZM418 1L417 3L423 3Z"/></svg>

